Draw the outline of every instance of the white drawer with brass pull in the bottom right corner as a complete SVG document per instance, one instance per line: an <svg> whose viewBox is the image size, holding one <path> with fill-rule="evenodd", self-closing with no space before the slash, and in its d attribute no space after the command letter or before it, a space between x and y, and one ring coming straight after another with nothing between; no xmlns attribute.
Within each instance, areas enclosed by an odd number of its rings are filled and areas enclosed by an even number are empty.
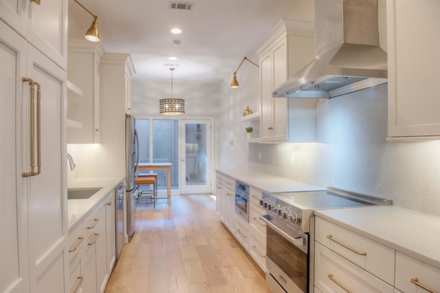
<svg viewBox="0 0 440 293"><path fill-rule="evenodd" d="M421 287L412 283L411 280L430 288L434 292L440 292L440 270L396 252L395 287L408 293L429 292L428 290L421 290Z"/></svg>

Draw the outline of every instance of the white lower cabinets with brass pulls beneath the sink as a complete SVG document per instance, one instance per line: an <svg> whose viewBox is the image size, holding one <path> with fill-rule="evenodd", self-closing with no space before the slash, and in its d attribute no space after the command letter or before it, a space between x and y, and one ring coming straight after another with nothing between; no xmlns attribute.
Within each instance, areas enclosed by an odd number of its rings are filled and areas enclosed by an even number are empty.
<svg viewBox="0 0 440 293"><path fill-rule="evenodd" d="M114 192L69 230L69 292L104 292L115 264Z"/></svg>

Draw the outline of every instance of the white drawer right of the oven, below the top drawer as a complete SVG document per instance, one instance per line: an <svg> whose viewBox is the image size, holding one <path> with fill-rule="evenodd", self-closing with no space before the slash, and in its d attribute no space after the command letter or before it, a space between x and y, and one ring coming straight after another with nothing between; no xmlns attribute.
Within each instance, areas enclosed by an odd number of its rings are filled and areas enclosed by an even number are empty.
<svg viewBox="0 0 440 293"><path fill-rule="evenodd" d="M316 243L315 253L315 286L320 292L344 292L342 288L345 287L350 292L393 293L394 288L391 285L320 243Z"/></svg>

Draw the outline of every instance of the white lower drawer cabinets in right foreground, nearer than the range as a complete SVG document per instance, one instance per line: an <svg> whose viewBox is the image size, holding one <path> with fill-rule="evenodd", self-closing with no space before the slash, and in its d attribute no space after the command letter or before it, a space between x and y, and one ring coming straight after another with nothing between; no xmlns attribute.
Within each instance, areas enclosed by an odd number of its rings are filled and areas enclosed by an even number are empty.
<svg viewBox="0 0 440 293"><path fill-rule="evenodd" d="M440 292L440 270L316 217L315 292Z"/></svg>

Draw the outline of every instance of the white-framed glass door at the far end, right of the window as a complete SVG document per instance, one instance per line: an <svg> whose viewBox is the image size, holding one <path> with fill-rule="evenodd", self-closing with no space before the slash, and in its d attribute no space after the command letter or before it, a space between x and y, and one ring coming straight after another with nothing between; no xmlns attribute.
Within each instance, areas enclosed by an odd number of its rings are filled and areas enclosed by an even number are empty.
<svg viewBox="0 0 440 293"><path fill-rule="evenodd" d="M181 120L181 193L211 192L211 120Z"/></svg>

